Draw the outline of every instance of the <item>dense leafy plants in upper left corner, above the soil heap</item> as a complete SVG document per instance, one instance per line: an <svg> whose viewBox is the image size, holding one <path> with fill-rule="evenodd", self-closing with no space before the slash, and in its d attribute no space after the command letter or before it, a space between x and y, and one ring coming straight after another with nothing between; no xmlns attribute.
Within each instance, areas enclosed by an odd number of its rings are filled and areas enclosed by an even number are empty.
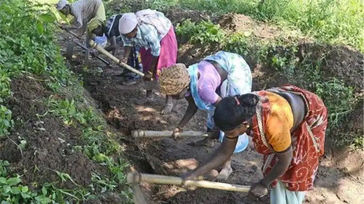
<svg viewBox="0 0 364 204"><path fill-rule="evenodd" d="M0 3L0 34L4 36L0 39L0 102L10 96L10 79L19 74L42 74L54 88L70 82L60 49L52 43L54 26L32 5L21 0ZM4 136L11 127L11 111L1 106L0 117L0 136Z"/></svg>

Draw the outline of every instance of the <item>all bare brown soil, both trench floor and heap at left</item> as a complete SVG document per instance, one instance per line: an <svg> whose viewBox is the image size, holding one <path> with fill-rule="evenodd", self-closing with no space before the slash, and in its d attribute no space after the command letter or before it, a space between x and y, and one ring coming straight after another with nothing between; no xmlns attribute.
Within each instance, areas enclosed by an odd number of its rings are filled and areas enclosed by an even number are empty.
<svg viewBox="0 0 364 204"><path fill-rule="evenodd" d="M178 9L171 9L165 14L174 24L187 18L193 21L211 19L219 23L228 33L244 32L260 40L270 40L287 33L286 30L256 22L244 15L212 16L198 11ZM61 33L59 42L63 54L70 37L67 33ZM179 45L178 61L187 65L220 49L217 45L189 44L182 38L179 39ZM343 45L314 44L309 39L302 39L298 49L297 58L300 61L314 61L326 56L323 59L323 69L327 71L328 78L338 77L347 85L354 86L356 93L363 91L363 54L360 52ZM137 171L178 176L195 168L219 146L218 143L215 143L214 148L188 145L200 138L182 138L177 141L171 138L133 141L129 136L132 130L173 130L182 117L187 102L174 101L172 113L167 116L160 115L165 96L156 90L153 102L138 105L145 95L141 81L133 86L123 86L121 85L123 79L119 75L120 68L106 67L95 59L91 59L90 65L85 66L82 51L80 48L75 50L75 58L70 60L67 66L82 78L84 88L95 100L93 105L102 112L110 129L119 133L120 143L126 146L125 154ZM276 69L267 67L250 56L244 57L253 73L253 81L256 82L254 88L280 86L289 82L281 77ZM64 189L73 188L75 184L70 181L57 182L59 176L54 169L69 174L75 183L83 186L91 183L92 172L108 174L105 166L95 163L81 153L72 151L73 146L83 145L79 124L65 126L61 119L47 113L48 107L45 100L50 97L50 91L42 79L20 76L12 80L11 91L13 96L7 106L13 112L15 127L9 138L0 144L0 158L9 160L12 173L23 175L23 182L34 188L47 182L56 182L57 187ZM66 98L65 96L54 97ZM206 113L199 111L187 124L185 130L205 131L205 118ZM358 104L343 127L345 127L343 131L363 134L363 103ZM22 149L16 145L21 140L27 141L27 148ZM320 161L315 187L307 193L305 203L364 203L363 150L337 148L332 146L331 142L328 140L325 144L326 153ZM254 151L250 143L246 151L233 156L234 172L226 182L251 185L262 177L261 165L261 155ZM248 197L247 193L210 189L186 191L176 186L149 184L143 184L142 187L149 203L155 204L269 203L268 196L258 200ZM117 195L106 194L99 200L91 200L87 203L116 204L122 201Z"/></svg>

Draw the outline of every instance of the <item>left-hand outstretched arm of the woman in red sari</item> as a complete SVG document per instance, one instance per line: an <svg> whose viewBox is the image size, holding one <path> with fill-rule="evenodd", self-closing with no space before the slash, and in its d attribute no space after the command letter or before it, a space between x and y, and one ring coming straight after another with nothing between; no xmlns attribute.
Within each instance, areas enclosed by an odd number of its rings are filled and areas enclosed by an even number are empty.
<svg viewBox="0 0 364 204"><path fill-rule="evenodd" d="M238 137L232 139L224 137L221 146L219 146L215 150L215 152L212 153L209 159L207 159L204 163L202 163L192 172L189 172L187 175L184 175L183 178L185 180L190 180L199 177L200 175L205 175L210 170L220 166L232 156L232 153L234 152L237 142L238 142Z"/></svg>

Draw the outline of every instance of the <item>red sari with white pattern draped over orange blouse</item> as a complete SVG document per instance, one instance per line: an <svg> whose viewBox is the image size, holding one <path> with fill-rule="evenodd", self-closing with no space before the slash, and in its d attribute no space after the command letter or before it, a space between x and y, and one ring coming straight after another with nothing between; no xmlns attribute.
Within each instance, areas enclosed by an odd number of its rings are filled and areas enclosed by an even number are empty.
<svg viewBox="0 0 364 204"><path fill-rule="evenodd" d="M325 131L328 111L324 102L305 89L286 85L274 88L280 92L289 92L303 97L307 113L299 126L291 131L293 159L287 171L279 179L290 191L306 191L313 188L317 172L318 158L324 154ZM275 152L265 138L265 121L269 117L271 105L265 91L254 92L261 100L252 118L252 137L258 153L263 154L263 174L268 174L276 163ZM271 186L275 187L277 180Z"/></svg>

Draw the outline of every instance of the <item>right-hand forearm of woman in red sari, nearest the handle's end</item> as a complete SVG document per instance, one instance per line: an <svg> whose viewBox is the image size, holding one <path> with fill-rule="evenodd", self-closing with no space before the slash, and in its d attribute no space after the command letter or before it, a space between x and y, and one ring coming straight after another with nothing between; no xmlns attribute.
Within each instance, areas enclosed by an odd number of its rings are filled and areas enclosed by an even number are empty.
<svg viewBox="0 0 364 204"><path fill-rule="evenodd" d="M284 152L277 152L275 154L278 161L274 164L272 170L264 176L262 183L268 187L275 179L281 177L288 169L289 164L293 158L292 146L289 146Z"/></svg>

